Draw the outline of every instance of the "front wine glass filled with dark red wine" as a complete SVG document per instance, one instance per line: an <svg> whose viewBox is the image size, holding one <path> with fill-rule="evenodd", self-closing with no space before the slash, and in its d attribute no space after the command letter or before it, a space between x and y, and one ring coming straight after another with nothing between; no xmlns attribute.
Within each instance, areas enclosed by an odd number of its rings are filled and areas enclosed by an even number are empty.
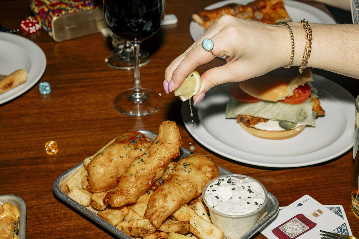
<svg viewBox="0 0 359 239"><path fill-rule="evenodd" d="M164 0L104 0L104 18L119 37L129 40L134 49L134 87L118 94L113 106L122 114L144 116L155 113L163 104L159 93L141 87L140 43L153 36L164 19Z"/></svg>

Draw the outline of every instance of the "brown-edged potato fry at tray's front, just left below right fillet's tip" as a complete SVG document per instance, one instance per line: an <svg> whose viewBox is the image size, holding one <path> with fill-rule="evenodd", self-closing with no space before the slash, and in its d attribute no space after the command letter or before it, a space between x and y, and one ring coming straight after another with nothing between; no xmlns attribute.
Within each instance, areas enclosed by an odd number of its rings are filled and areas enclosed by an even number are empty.
<svg viewBox="0 0 359 239"><path fill-rule="evenodd" d="M148 219L121 221L116 227L129 236L137 237L143 237L156 231Z"/></svg>

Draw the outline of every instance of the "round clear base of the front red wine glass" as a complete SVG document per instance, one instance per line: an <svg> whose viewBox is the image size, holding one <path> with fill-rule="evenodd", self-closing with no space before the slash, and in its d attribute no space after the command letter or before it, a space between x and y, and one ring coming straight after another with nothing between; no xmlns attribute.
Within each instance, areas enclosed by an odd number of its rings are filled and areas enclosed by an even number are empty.
<svg viewBox="0 0 359 239"><path fill-rule="evenodd" d="M113 107L125 115L145 116L157 112L163 104L161 94L142 88L139 95L133 95L133 88L122 91L113 100Z"/></svg>

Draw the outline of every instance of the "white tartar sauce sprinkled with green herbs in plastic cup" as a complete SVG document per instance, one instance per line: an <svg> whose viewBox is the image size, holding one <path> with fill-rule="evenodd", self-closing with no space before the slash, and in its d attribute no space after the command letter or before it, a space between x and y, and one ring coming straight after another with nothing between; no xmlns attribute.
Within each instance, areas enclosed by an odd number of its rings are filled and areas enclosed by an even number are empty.
<svg viewBox="0 0 359 239"><path fill-rule="evenodd" d="M265 200L262 186L251 178L232 176L215 180L204 193L208 206L223 214L240 216L259 209Z"/></svg>

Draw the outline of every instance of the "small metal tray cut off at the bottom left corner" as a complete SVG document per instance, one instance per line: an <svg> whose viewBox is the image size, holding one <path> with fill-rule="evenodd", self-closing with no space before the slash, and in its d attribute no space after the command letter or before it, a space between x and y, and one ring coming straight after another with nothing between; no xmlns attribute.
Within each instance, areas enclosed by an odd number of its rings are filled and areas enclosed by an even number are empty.
<svg viewBox="0 0 359 239"><path fill-rule="evenodd" d="M20 212L19 219L19 239L26 238L26 204L24 200L12 194L0 195L0 202L10 203L15 206Z"/></svg>

